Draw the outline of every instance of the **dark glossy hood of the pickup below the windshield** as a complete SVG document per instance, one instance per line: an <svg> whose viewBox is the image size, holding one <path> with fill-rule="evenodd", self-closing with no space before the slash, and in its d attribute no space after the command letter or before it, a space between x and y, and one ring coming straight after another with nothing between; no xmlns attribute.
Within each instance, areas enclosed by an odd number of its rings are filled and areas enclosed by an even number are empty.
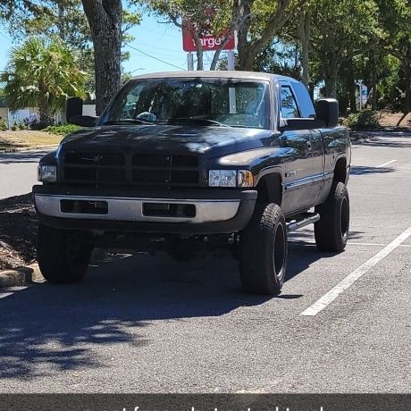
<svg viewBox="0 0 411 411"><path fill-rule="evenodd" d="M273 141L270 130L180 125L116 125L79 130L62 141L63 151L132 150L140 152L227 155Z"/></svg>

